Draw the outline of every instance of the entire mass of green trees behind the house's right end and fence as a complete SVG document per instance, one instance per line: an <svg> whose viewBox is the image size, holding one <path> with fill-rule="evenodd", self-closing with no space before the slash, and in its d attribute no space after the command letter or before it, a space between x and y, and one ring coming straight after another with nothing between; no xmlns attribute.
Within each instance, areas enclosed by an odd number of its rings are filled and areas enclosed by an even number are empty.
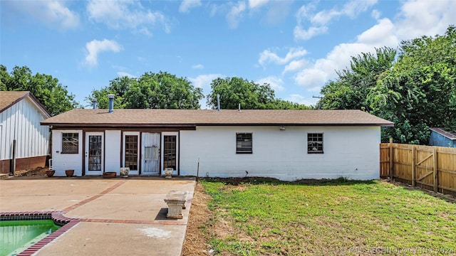
<svg viewBox="0 0 456 256"><path fill-rule="evenodd" d="M395 122L382 129L383 141L427 144L429 127L456 132L455 56L455 26L403 41L397 56L391 48L362 53L322 88L323 109L366 110Z"/></svg>

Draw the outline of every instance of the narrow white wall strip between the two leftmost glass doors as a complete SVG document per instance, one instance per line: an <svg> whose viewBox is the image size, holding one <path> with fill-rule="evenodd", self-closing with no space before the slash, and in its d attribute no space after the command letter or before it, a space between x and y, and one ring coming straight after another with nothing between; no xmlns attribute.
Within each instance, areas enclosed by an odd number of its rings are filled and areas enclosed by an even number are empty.
<svg viewBox="0 0 456 256"><path fill-rule="evenodd" d="M120 174L120 144L121 132L118 130L105 131L105 171L115 171Z"/></svg>

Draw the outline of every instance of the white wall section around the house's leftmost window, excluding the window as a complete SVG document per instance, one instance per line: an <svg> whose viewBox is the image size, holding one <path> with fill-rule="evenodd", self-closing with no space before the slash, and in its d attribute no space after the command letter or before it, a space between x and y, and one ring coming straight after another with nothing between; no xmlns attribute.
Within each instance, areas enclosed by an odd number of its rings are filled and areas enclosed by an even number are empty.
<svg viewBox="0 0 456 256"><path fill-rule="evenodd" d="M62 133L73 132L79 134L78 154L61 154ZM55 176L65 176L66 169L73 169L75 176L83 174L83 131L81 129L66 129L52 131L52 169Z"/></svg>

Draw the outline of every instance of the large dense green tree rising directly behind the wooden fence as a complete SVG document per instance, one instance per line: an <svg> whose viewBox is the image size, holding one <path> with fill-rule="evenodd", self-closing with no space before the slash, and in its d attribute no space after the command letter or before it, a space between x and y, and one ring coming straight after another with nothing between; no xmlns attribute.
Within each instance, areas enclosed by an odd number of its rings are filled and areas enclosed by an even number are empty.
<svg viewBox="0 0 456 256"><path fill-rule="evenodd" d="M443 36L403 41L400 48L398 62L368 95L373 114L395 122L385 135L427 144L428 127L456 132L456 27Z"/></svg>

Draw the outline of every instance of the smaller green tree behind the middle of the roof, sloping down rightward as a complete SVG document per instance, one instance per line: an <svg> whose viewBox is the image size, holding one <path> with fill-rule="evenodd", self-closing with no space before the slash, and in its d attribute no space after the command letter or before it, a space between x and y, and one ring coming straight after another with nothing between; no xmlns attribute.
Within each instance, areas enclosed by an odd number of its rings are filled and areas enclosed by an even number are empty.
<svg viewBox="0 0 456 256"><path fill-rule="evenodd" d="M217 95L220 95L220 107L236 110L241 105L243 110L294 110L308 109L305 105L276 99L269 84L259 85L243 78L216 78L212 80L211 92L207 95L207 105L217 108Z"/></svg>

